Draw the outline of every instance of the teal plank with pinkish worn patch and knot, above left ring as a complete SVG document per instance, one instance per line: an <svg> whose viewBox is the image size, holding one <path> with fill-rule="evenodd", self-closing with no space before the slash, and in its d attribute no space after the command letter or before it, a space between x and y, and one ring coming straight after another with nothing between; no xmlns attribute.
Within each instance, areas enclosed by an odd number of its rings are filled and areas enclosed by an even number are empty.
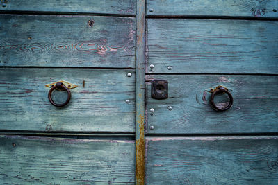
<svg viewBox="0 0 278 185"><path fill-rule="evenodd" d="M135 67L135 18L0 15L0 65Z"/></svg>

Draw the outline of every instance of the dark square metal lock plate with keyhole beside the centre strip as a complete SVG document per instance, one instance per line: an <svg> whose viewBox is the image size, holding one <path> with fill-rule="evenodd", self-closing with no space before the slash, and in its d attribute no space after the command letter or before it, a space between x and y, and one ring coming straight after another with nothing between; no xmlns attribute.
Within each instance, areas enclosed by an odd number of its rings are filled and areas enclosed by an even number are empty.
<svg viewBox="0 0 278 185"><path fill-rule="evenodd" d="M152 98L158 100L168 98L168 82L166 80L152 80Z"/></svg>

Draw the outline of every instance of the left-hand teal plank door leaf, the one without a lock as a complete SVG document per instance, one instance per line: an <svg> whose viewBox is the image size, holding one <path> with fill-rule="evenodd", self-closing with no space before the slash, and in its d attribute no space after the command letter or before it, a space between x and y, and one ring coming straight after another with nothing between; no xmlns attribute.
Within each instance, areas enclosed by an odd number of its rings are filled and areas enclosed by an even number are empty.
<svg viewBox="0 0 278 185"><path fill-rule="evenodd" d="M0 184L135 184L136 1L0 10Z"/></svg>

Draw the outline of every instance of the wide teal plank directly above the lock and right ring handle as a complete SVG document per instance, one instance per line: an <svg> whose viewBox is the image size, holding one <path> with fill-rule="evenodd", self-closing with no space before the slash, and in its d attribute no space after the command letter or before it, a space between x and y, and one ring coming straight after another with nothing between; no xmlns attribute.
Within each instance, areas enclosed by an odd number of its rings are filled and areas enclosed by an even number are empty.
<svg viewBox="0 0 278 185"><path fill-rule="evenodd" d="M278 73L277 21L148 19L147 23L149 73Z"/></svg>

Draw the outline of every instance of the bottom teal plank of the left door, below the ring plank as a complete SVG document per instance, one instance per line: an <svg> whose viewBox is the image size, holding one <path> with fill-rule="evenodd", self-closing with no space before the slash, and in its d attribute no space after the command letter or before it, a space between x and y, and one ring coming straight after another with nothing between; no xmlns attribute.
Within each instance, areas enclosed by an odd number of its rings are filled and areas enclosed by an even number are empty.
<svg viewBox="0 0 278 185"><path fill-rule="evenodd" d="M134 184L134 141L0 136L1 184Z"/></svg>

